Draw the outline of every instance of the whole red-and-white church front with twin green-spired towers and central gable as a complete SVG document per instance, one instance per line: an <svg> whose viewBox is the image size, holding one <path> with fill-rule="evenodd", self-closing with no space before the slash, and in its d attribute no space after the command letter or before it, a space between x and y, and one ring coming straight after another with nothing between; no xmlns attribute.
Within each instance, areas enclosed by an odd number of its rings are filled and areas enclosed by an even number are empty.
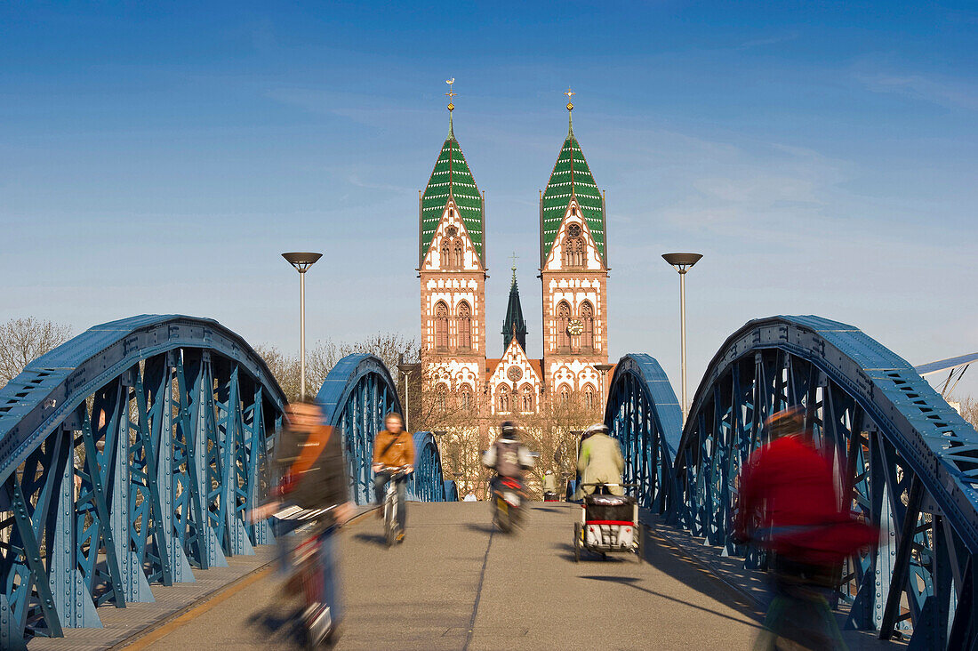
<svg viewBox="0 0 978 651"><path fill-rule="evenodd" d="M422 383L437 404L452 400L483 422L519 420L551 400L578 399L596 410L602 403L599 369L607 370L608 359L604 196L574 135L573 105L567 110L567 136L540 193L541 356L527 354L513 266L503 356L488 357L485 197L451 114L448 137L420 193Z"/></svg>

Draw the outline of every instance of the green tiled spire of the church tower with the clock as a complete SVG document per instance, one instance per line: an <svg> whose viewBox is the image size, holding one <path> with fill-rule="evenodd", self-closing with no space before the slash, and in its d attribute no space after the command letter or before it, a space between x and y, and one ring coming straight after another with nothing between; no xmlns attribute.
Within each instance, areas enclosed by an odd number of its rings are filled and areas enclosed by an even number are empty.
<svg viewBox="0 0 978 651"><path fill-rule="evenodd" d="M568 105L568 109L572 106ZM554 171L551 172L550 181L543 194L540 215L542 229L540 264L545 264L547 256L550 256L567 205L572 198L576 198L577 204L581 207L581 215L598 246L601 260L607 266L607 258L604 256L604 202L598 184L595 183L595 177L591 175L591 168L584 160L581 146L574 137L574 126L570 122L569 111L567 116L567 138L563 141L560 154L556 157Z"/></svg>

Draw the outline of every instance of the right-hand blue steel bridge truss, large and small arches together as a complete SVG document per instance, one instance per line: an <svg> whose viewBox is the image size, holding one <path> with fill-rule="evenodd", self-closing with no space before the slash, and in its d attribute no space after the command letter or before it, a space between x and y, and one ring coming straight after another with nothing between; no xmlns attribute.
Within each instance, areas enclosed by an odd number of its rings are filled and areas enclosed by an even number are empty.
<svg viewBox="0 0 978 651"><path fill-rule="evenodd" d="M680 438L671 392L659 392L664 413L652 413L661 369L649 360L623 358L605 414L646 506L763 567L763 555L731 537L736 477L766 442L765 418L802 405L834 456L845 498L883 531L878 549L852 557L840 575L848 626L883 638L901 630L926 648L976 643L978 433L909 363L820 317L751 321L714 356ZM664 483L663 450L677 438Z"/></svg>

